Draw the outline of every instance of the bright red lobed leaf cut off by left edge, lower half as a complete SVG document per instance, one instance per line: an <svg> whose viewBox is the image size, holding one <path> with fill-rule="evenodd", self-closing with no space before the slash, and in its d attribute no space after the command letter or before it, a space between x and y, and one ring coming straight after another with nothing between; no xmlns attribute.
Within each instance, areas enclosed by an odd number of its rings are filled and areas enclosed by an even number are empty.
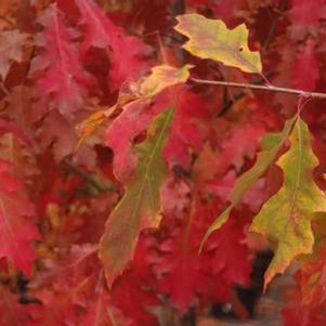
<svg viewBox="0 0 326 326"><path fill-rule="evenodd" d="M39 233L29 220L35 210L4 161L0 161L0 257L8 258L16 270L30 275L35 260L31 242L39 239Z"/></svg>

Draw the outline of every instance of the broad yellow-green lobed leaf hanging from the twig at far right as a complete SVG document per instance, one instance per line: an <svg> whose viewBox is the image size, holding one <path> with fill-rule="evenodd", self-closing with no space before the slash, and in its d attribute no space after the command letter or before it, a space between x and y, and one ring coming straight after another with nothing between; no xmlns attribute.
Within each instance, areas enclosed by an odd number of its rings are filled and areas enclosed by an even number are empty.
<svg viewBox="0 0 326 326"><path fill-rule="evenodd" d="M300 118L290 134L290 148L277 165L284 173L283 186L263 205L250 226L250 231L262 234L276 246L265 273L265 287L298 255L312 252L311 220L316 212L326 211L325 194L312 175L318 160L311 148L308 126Z"/></svg>

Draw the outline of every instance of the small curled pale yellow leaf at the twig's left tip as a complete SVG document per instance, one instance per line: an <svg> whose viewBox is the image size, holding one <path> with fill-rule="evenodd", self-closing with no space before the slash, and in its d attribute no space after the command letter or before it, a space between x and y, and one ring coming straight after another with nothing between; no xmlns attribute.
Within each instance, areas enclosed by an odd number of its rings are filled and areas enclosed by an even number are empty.
<svg viewBox="0 0 326 326"><path fill-rule="evenodd" d="M168 87L185 82L190 77L190 69L193 67L193 65L184 65L182 68L169 65L153 67L152 74L140 83L140 95L152 97Z"/></svg>

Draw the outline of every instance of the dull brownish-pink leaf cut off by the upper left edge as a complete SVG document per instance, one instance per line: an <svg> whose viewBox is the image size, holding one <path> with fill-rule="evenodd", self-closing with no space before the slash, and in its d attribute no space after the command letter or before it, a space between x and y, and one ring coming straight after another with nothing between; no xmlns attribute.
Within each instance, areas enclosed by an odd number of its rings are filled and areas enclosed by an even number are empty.
<svg viewBox="0 0 326 326"><path fill-rule="evenodd" d="M5 79L13 62L23 60L23 48L28 42L28 35L17 29L0 34L0 76Z"/></svg>

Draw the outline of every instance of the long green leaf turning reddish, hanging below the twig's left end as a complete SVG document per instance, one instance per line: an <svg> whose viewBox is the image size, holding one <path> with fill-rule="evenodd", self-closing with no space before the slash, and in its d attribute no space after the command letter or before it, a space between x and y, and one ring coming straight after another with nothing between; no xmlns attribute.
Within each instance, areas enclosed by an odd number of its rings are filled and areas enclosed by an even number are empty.
<svg viewBox="0 0 326 326"><path fill-rule="evenodd" d="M126 184L125 195L107 219L100 242L108 286L132 260L139 234L160 222L160 186L167 177L161 152L169 134L173 109L168 108L151 123L146 140L135 146L138 167Z"/></svg>

